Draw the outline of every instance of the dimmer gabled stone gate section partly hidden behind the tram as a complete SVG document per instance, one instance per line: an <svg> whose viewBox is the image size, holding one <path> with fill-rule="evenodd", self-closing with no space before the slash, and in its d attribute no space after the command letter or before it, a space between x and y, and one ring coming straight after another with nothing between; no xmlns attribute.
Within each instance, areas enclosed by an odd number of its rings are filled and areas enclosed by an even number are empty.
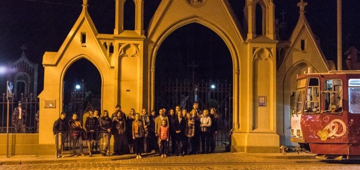
<svg viewBox="0 0 360 170"><path fill-rule="evenodd" d="M276 73L276 131L280 136L280 144L286 146L298 145L290 142L290 116L293 104L291 98L296 89L296 76L309 71L327 72L335 69L334 63L326 60L306 20L304 7L307 3L301 1L297 5L300 8L299 18L287 41L289 44L277 44L279 51L284 52L283 55L279 55L283 59L280 59L281 63ZM283 46L286 48L282 48Z"/></svg>

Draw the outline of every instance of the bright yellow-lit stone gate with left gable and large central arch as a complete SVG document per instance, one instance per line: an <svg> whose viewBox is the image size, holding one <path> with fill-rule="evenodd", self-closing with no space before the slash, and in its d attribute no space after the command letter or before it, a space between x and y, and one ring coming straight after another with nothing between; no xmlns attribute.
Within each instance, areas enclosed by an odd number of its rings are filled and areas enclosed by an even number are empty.
<svg viewBox="0 0 360 170"><path fill-rule="evenodd" d="M66 69L85 58L101 76L101 110L154 109L155 58L163 40L175 29L199 23L213 30L232 58L233 133L231 151L277 152L276 43L272 0L245 0L241 25L227 0L161 0L147 33L143 30L143 0L135 5L135 30L123 30L123 4L115 0L113 34L98 33L83 0L82 11L57 52L43 55L44 87L39 95L38 154L55 151L52 124L62 111ZM255 34L255 6L262 9L262 33ZM85 39L84 39L85 38ZM112 44L109 52L103 44ZM81 71L81 70L79 70ZM45 101L55 107L45 108Z"/></svg>

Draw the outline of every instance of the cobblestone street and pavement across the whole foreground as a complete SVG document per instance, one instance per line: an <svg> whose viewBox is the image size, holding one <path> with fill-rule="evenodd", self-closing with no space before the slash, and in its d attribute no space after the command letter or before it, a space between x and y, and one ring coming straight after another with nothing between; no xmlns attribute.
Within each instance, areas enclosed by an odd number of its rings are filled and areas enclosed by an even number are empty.
<svg viewBox="0 0 360 170"><path fill-rule="evenodd" d="M305 154L305 153L304 153ZM127 157L126 157L127 156ZM108 159L95 155L49 158L43 157L41 163L31 164L22 161L21 164L2 162L1 169L360 169L356 162L324 162L321 159L304 158L303 154L280 153L246 154L246 153L212 153L189 156L148 155L142 159L132 158L132 155ZM132 157L131 157L132 156ZM6 157L5 157L6 158ZM111 159L109 159L111 158ZM1 157L1 160L4 158ZM13 158L14 159L14 158ZM117 160L116 160L117 159ZM25 160L25 158L24 158ZM76 161L74 161L76 160ZM26 162L28 164L26 164ZM40 161L39 161L40 162ZM33 162L32 162L33 163Z"/></svg>

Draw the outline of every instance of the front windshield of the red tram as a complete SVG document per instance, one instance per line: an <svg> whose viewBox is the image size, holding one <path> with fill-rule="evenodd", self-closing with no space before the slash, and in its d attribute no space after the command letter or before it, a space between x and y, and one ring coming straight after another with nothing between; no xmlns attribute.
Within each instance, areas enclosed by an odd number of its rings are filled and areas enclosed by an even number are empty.
<svg viewBox="0 0 360 170"><path fill-rule="evenodd" d="M298 79L296 81L296 93L295 99L293 103L293 110L292 114L299 114L301 113L302 108L302 99L305 96L305 85L306 85L306 78Z"/></svg>

